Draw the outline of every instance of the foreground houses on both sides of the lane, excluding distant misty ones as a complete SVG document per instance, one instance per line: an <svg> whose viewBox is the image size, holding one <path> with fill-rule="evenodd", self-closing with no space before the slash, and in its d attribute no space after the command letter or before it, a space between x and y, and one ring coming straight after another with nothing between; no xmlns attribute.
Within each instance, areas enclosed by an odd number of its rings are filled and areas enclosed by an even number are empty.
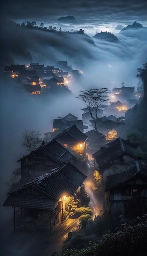
<svg viewBox="0 0 147 256"><path fill-rule="evenodd" d="M13 207L14 228L51 232L65 213L72 216L80 190L86 187L80 159L88 160L90 136L103 144L92 157L94 178L101 180L105 195L104 212L120 212L125 218L147 212L147 165L138 144L121 137L107 142L101 132L83 131L82 120L71 113L54 119L55 137L18 160L20 182L11 187L3 204Z"/></svg>

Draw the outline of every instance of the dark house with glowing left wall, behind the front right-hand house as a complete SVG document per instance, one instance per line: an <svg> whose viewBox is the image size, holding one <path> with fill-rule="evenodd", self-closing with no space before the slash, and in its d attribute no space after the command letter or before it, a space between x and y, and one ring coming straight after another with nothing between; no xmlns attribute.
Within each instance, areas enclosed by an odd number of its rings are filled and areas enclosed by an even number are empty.
<svg viewBox="0 0 147 256"><path fill-rule="evenodd" d="M121 173L134 164L138 158L137 146L137 144L119 137L105 144L92 155L94 158L94 175L97 176L97 173L101 175L102 186L109 175Z"/></svg>

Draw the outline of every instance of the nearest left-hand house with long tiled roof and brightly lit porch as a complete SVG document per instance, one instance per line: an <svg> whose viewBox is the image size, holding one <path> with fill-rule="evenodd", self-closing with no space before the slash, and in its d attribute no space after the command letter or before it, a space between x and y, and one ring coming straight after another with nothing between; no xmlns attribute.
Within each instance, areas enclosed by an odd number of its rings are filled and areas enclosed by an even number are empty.
<svg viewBox="0 0 147 256"><path fill-rule="evenodd" d="M14 229L51 232L70 211L68 203L86 177L66 162L9 193L3 205L14 209Z"/></svg>

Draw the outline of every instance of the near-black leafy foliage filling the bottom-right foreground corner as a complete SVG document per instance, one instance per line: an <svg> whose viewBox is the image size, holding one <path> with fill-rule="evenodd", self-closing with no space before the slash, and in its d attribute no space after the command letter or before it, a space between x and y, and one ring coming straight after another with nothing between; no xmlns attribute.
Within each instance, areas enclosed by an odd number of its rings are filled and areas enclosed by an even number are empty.
<svg viewBox="0 0 147 256"><path fill-rule="evenodd" d="M147 255L147 214L134 222L121 225L116 232L108 231L97 243L87 248L68 249L64 256L145 256Z"/></svg>

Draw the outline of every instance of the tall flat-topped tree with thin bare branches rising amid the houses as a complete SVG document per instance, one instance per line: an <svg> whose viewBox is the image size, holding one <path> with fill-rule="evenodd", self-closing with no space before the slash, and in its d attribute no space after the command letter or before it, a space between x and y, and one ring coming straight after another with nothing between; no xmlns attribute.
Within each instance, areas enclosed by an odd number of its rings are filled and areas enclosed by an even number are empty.
<svg viewBox="0 0 147 256"><path fill-rule="evenodd" d="M109 90L107 88L90 89L81 91L78 99L81 99L86 103L90 116L94 121L94 129L97 130L97 115L98 111L103 103L108 103L109 96L107 95Z"/></svg>

